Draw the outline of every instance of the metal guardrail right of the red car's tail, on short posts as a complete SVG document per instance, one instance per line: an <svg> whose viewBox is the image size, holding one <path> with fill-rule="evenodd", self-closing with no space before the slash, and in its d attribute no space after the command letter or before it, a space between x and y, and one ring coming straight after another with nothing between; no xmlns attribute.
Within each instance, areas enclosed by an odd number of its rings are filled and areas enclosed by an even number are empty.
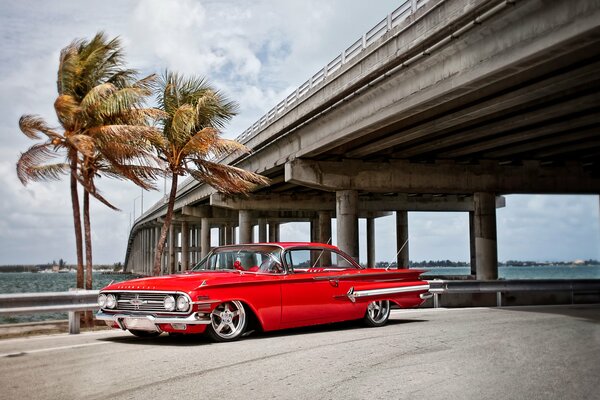
<svg viewBox="0 0 600 400"><path fill-rule="evenodd" d="M496 293L496 305L502 306L502 294L508 292L599 292L599 279L523 279L500 281L448 281L431 280L429 292L433 293L433 307L439 307L439 297L447 294Z"/></svg>

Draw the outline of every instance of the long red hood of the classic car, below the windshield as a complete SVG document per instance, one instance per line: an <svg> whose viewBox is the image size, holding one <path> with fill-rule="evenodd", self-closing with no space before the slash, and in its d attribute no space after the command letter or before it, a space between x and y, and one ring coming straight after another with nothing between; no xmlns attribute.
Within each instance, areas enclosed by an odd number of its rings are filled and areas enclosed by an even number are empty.
<svg viewBox="0 0 600 400"><path fill-rule="evenodd" d="M113 283L101 290L165 290L189 292L200 286L216 286L272 279L266 274L239 271L186 272Z"/></svg>

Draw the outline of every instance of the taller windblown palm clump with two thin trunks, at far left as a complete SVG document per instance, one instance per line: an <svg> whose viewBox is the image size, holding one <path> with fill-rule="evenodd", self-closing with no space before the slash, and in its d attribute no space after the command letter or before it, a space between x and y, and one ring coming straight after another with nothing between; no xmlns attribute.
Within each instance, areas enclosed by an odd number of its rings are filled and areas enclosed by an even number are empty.
<svg viewBox="0 0 600 400"><path fill-rule="evenodd" d="M70 175L71 202L77 250L77 287L83 287L81 214L77 184L84 188L86 236L86 286L91 289L92 248L89 227L89 195L114 208L98 193L98 172L130 179L151 187L155 169L150 165L147 139L156 135L147 126L158 111L142 108L151 93L154 77L135 81L136 72L123 67L120 41L100 32L92 40L75 40L62 49L58 68L58 97L54 108L62 132L41 118L24 115L19 121L31 139L46 140L21 154L17 175L23 184ZM53 162L64 156L64 162Z"/></svg>

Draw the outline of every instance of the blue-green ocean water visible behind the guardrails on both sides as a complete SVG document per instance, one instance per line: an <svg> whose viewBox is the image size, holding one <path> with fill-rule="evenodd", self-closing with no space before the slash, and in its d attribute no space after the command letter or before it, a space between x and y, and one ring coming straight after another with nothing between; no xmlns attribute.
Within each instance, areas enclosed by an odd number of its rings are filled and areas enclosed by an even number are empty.
<svg viewBox="0 0 600 400"><path fill-rule="evenodd" d="M469 275L470 267L430 268L424 278ZM600 265L548 265L535 267L499 267L500 279L600 279ZM111 281L133 279L132 275L94 273L93 288L101 289ZM75 287L75 274L0 273L0 294L66 292ZM66 319L66 313L0 316L0 324Z"/></svg>

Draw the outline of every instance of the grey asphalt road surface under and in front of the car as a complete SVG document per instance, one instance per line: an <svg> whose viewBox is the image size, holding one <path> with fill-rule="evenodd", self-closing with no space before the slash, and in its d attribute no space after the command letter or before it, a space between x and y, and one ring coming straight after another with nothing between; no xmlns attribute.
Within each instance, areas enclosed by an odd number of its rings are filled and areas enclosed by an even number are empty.
<svg viewBox="0 0 600 400"><path fill-rule="evenodd" d="M389 325L0 341L0 399L598 399L600 305L393 312Z"/></svg>

